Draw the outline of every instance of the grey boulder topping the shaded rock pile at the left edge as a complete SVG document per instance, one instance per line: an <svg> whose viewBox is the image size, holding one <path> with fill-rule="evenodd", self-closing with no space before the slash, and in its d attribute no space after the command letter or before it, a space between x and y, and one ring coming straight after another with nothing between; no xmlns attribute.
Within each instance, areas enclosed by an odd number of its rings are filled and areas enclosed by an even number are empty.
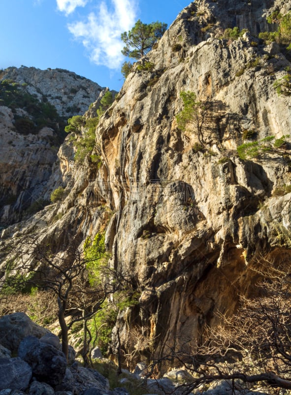
<svg viewBox="0 0 291 395"><path fill-rule="evenodd" d="M49 331L32 322L25 313L13 313L0 318L1 345L16 352L19 343L27 336L40 338Z"/></svg>

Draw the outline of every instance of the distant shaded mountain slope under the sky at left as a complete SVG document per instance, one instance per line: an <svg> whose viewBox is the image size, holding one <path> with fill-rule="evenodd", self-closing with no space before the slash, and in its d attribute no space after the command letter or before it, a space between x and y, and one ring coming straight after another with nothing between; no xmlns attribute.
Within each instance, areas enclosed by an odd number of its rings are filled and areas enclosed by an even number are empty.
<svg viewBox="0 0 291 395"><path fill-rule="evenodd" d="M23 66L0 73L0 226L19 222L49 202L47 183L66 119L83 114L104 89L62 69Z"/></svg>

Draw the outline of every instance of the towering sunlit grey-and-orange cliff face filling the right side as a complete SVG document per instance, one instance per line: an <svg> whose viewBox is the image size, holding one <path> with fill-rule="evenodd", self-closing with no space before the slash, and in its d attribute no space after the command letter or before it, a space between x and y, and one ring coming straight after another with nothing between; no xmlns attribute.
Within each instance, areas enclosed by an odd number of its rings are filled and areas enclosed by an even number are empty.
<svg viewBox="0 0 291 395"><path fill-rule="evenodd" d="M140 292L118 316L113 349L117 329L126 350L148 339L141 358L179 349L215 325L217 312L235 310L253 265L290 260L291 99L274 87L290 55L256 37L270 29L267 15L290 8L284 0L191 3L101 118L101 165L67 165L65 142L65 199L3 231L7 239L38 233L58 251L106 230L109 264ZM250 33L225 40L233 26ZM197 120L177 125L188 91L202 103L200 139Z"/></svg>

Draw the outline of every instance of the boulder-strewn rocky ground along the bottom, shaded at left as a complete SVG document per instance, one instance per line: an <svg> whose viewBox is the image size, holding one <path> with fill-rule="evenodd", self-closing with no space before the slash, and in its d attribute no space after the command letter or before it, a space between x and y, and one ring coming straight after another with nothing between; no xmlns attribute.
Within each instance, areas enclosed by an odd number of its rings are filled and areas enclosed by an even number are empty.
<svg viewBox="0 0 291 395"><path fill-rule="evenodd" d="M71 346L66 360L60 339L33 323L24 313L0 318L0 342L0 395L189 394L185 383L191 382L192 376L186 370L175 369L162 379L149 379L144 364L138 364L133 373L123 370L119 379L116 376L120 386L110 389L108 379L75 360ZM208 387L206 391L192 394L231 394L233 385L219 381ZM235 395L264 395L247 391L238 383L233 390Z"/></svg>

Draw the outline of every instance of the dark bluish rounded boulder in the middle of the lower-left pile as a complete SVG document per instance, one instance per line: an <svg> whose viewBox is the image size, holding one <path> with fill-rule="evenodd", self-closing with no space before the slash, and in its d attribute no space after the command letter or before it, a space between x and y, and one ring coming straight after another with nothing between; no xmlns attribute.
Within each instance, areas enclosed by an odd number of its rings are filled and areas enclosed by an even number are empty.
<svg viewBox="0 0 291 395"><path fill-rule="evenodd" d="M40 342L34 336L28 336L20 343L18 356L32 366L32 373L38 381L52 386L62 383L66 358L56 347Z"/></svg>

